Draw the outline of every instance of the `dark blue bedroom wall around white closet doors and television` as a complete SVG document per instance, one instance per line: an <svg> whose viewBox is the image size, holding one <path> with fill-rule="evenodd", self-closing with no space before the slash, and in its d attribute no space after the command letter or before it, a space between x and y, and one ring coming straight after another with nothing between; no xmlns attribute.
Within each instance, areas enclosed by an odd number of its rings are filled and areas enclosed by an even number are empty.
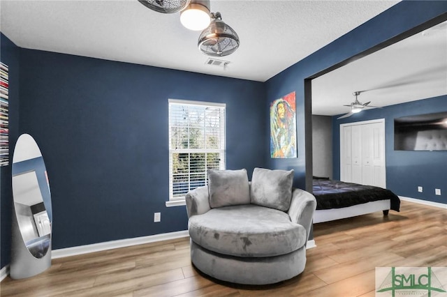
<svg viewBox="0 0 447 297"><path fill-rule="evenodd" d="M340 129L342 123L385 119L386 141L386 186L396 195L447 203L447 151L395 151L394 119L401 116L430 114L447 111L447 96L417 100L382 109L364 110L349 118L337 120L332 118L332 135L334 148L334 178L340 176ZM424 191L418 192L418 185ZM441 189L441 196L434 195L434 189Z"/></svg>

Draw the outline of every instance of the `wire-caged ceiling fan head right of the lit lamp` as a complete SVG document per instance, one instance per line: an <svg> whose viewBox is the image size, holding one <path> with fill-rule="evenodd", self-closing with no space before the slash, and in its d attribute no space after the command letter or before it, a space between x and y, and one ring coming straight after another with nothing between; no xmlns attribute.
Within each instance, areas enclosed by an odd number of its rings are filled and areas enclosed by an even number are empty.
<svg viewBox="0 0 447 297"><path fill-rule="evenodd" d="M239 36L222 21L220 13L212 13L212 22L200 33L198 48L208 56L228 56L239 47Z"/></svg>

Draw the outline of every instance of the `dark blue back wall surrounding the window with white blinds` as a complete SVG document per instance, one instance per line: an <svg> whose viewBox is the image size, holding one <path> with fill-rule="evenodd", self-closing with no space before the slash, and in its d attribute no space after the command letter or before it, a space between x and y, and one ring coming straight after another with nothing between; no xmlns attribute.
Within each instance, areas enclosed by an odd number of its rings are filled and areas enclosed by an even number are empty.
<svg viewBox="0 0 447 297"><path fill-rule="evenodd" d="M20 133L45 160L54 249L187 229L186 208L165 206L168 98L226 103L227 168L264 166L260 82L24 49L20 72Z"/></svg>

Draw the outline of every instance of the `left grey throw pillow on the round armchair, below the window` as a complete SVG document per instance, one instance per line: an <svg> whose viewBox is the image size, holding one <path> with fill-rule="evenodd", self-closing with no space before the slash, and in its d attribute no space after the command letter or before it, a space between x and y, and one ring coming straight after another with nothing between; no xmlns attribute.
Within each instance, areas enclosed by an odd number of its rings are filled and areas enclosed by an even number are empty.
<svg viewBox="0 0 447 297"><path fill-rule="evenodd" d="M208 192L212 208L250 204L247 169L208 171Z"/></svg>

